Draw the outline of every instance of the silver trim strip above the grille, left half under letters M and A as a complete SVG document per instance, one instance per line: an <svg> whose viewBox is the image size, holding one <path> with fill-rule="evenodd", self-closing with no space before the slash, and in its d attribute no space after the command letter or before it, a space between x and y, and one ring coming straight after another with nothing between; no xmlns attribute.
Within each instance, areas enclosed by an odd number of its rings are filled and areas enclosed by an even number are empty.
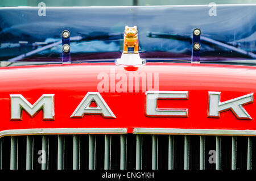
<svg viewBox="0 0 256 181"><path fill-rule="evenodd" d="M18 136L32 134L104 134L119 133L126 134L127 128L38 128L38 129L10 129L0 132L0 138L3 136Z"/></svg>

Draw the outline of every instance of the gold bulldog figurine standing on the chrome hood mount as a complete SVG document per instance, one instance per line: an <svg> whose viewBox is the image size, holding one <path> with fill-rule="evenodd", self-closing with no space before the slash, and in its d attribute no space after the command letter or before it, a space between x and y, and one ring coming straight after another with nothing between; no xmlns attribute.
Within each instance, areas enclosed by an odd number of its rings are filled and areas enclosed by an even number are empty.
<svg viewBox="0 0 256 181"><path fill-rule="evenodd" d="M125 26L125 34L123 35L123 53L128 53L128 47L134 47L134 53L139 53L137 26Z"/></svg>

